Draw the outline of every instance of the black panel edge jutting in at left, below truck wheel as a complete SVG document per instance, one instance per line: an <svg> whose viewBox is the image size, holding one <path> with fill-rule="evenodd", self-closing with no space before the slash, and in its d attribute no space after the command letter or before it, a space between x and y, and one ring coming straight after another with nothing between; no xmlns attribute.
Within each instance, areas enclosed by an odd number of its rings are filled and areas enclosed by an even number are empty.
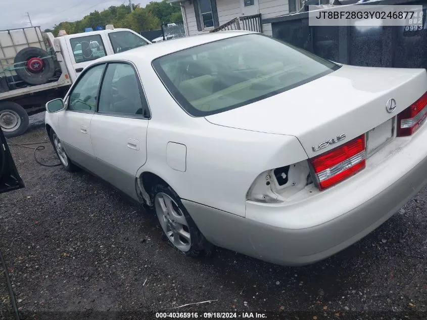
<svg viewBox="0 0 427 320"><path fill-rule="evenodd" d="M13 161L5 135L0 128L0 193L24 188L24 182L19 176Z"/></svg>

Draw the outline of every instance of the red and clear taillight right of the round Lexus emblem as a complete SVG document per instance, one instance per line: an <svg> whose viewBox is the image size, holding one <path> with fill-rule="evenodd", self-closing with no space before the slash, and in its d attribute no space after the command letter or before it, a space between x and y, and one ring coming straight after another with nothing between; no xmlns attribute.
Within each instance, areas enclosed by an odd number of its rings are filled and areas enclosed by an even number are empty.
<svg viewBox="0 0 427 320"><path fill-rule="evenodd" d="M397 136L414 133L427 117L427 93L397 116Z"/></svg>

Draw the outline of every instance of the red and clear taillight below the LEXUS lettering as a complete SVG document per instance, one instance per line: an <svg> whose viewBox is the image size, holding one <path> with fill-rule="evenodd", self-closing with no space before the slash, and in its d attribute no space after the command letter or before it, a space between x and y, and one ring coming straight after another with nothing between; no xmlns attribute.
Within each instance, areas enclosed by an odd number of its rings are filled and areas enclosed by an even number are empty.
<svg viewBox="0 0 427 320"><path fill-rule="evenodd" d="M337 184L365 167L365 135L310 159L310 163L316 174L319 190Z"/></svg>

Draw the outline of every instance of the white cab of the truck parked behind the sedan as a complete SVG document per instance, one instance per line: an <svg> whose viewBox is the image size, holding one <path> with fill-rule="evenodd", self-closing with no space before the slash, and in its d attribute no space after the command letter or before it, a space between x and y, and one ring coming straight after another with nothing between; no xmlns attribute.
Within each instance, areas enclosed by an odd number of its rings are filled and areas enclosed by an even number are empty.
<svg viewBox="0 0 427 320"><path fill-rule="evenodd" d="M62 56L58 59L63 59L71 82L92 60L150 43L138 33L120 28L62 35L54 39L57 56Z"/></svg>

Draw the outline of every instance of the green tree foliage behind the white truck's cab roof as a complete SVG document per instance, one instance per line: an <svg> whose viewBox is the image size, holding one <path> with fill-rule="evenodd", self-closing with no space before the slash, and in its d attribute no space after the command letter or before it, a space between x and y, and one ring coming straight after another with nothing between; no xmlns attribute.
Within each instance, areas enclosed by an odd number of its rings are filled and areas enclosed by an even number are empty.
<svg viewBox="0 0 427 320"><path fill-rule="evenodd" d="M161 23L182 21L181 10L177 6L171 6L166 0L161 2L152 1L145 8L133 5L133 12L130 6L111 6L101 12L93 11L74 22L64 21L54 28L46 29L57 36L59 30L65 30L68 34L84 32L85 28L105 27L113 24L115 28L128 28L133 31L146 31L160 29Z"/></svg>

